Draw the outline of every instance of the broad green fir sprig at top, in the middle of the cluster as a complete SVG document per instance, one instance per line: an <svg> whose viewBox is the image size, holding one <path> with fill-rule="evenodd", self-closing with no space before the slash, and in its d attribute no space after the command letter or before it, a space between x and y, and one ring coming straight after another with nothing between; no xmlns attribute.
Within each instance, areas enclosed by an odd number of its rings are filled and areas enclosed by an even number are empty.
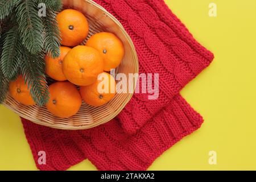
<svg viewBox="0 0 256 182"><path fill-rule="evenodd" d="M23 0L16 7L16 18L22 44L31 53L41 52L43 49L43 23L38 16L36 3Z"/></svg>

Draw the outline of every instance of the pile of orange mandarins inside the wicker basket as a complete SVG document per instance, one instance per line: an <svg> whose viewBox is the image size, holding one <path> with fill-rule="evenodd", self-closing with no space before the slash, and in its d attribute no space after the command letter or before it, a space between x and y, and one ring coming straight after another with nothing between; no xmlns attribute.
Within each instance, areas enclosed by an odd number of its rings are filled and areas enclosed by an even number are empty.
<svg viewBox="0 0 256 182"><path fill-rule="evenodd" d="M47 109L53 115L68 118L75 115L84 100L91 106L102 106L115 96L115 79L108 72L121 63L125 50L121 40L112 33L91 36L85 46L79 46L88 36L89 24L84 14L66 9L56 16L60 34L60 56L46 55L46 74L55 82L49 85ZM102 75L102 80L98 76ZM108 79L109 92L98 91L99 84ZM106 85L103 85L103 87ZM102 88L104 89L104 88ZM30 88L19 76L9 85L10 96L24 105L35 105Z"/></svg>

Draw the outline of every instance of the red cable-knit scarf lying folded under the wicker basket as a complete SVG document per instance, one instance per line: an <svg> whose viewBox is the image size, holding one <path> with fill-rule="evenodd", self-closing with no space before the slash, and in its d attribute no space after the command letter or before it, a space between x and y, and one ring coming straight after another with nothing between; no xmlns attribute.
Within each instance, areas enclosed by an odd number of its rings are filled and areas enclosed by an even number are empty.
<svg viewBox="0 0 256 182"><path fill-rule="evenodd" d="M22 119L36 166L64 170L88 158L100 170L144 170L201 126L203 118L179 95L213 60L163 0L95 0L122 23L139 57L140 73L159 73L159 98L134 94L112 121L65 131ZM38 164L38 152L46 164Z"/></svg>

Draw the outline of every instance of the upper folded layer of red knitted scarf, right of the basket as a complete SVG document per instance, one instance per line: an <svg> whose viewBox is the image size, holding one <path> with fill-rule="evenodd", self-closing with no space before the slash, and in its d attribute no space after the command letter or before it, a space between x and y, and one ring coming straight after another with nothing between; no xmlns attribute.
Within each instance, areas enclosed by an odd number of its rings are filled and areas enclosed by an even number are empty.
<svg viewBox="0 0 256 182"><path fill-rule="evenodd" d="M123 129L135 133L209 65L213 54L193 39L162 0L96 2L118 18L131 36L139 56L139 72L159 73L160 97L148 100L148 94L135 94L118 115Z"/></svg>

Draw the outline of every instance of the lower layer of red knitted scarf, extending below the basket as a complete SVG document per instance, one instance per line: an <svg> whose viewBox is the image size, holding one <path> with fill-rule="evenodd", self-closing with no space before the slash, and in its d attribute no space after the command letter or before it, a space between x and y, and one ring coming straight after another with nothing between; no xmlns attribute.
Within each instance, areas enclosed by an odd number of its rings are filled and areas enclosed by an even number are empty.
<svg viewBox="0 0 256 182"><path fill-rule="evenodd" d="M22 119L36 166L65 170L85 156L100 170L145 170L165 150L201 126L203 118L181 97L155 115L134 135L117 118L89 130L64 131ZM46 165L38 152L46 152Z"/></svg>

